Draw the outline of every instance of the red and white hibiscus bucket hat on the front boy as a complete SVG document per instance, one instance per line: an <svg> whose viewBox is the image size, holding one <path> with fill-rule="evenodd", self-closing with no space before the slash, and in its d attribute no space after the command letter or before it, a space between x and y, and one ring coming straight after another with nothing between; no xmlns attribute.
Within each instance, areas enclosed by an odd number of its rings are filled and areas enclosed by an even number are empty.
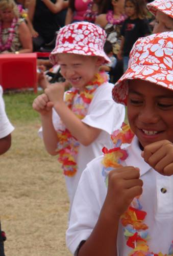
<svg viewBox="0 0 173 256"><path fill-rule="evenodd" d="M173 90L173 31L139 38L130 52L129 67L115 83L112 98L127 104L128 80L142 79Z"/></svg>

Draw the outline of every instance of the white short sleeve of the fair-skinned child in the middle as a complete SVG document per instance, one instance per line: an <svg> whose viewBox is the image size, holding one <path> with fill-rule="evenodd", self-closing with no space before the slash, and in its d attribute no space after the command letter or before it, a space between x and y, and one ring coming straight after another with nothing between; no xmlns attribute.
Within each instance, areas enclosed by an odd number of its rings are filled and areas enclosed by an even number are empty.
<svg viewBox="0 0 173 256"><path fill-rule="evenodd" d="M82 121L109 134L120 128L125 120L125 107L112 99L113 84L105 83L97 89L87 115Z"/></svg>

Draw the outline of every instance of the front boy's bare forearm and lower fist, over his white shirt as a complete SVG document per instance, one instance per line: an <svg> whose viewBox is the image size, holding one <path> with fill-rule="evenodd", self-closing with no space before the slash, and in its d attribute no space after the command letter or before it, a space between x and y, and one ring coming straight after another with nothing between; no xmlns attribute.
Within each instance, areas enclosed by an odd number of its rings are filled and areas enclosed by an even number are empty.
<svg viewBox="0 0 173 256"><path fill-rule="evenodd" d="M132 200L142 194L139 169L121 167L109 173L108 191L98 221L78 256L116 256L116 240L120 216Z"/></svg>

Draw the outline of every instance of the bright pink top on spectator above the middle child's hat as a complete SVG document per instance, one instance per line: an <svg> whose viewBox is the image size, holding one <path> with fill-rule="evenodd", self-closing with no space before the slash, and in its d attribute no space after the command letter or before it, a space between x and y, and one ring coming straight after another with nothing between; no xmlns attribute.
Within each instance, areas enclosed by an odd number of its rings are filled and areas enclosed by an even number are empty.
<svg viewBox="0 0 173 256"><path fill-rule="evenodd" d="M73 16L73 20L83 21L85 19L84 14L90 2L92 2L92 0L75 0L76 12Z"/></svg>

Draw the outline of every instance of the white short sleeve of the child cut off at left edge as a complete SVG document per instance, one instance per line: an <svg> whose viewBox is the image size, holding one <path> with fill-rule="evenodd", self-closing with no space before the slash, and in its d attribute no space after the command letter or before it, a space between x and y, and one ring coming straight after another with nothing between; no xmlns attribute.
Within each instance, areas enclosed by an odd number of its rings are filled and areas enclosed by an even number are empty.
<svg viewBox="0 0 173 256"><path fill-rule="evenodd" d="M8 136L14 130L5 112L5 103L3 99L3 90L0 86L0 139Z"/></svg>

